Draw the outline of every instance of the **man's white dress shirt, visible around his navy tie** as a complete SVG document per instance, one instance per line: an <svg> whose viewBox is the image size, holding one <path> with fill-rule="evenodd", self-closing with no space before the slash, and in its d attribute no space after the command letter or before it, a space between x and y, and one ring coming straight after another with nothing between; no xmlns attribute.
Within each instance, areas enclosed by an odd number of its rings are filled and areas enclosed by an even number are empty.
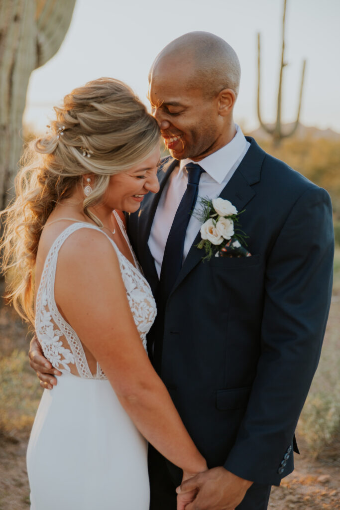
<svg viewBox="0 0 340 510"><path fill-rule="evenodd" d="M240 127L236 124L236 135L227 145L197 162L205 172L201 174L199 181L198 198L194 213L200 208L199 197L216 198L220 195L243 160L249 146L250 143L247 142ZM187 189L188 172L184 167L188 163L195 162L190 159L181 160L172 171L153 218L148 245L159 277L170 228L182 196ZM183 260L187 257L200 228L201 222L193 214L186 232Z"/></svg>

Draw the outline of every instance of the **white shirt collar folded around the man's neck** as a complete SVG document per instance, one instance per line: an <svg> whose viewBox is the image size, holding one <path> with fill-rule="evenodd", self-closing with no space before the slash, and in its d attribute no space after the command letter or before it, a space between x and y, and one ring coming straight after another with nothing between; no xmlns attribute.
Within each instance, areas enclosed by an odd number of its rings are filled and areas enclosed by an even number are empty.
<svg viewBox="0 0 340 510"><path fill-rule="evenodd" d="M207 156L197 162L197 164L219 184L222 184L228 172L244 153L247 145L247 140L245 139L240 126L235 124L235 127L236 135L229 143L221 147L216 152L213 152L210 156ZM195 161L192 161L189 158L180 160L179 175L182 174L185 165L188 163L195 163Z"/></svg>

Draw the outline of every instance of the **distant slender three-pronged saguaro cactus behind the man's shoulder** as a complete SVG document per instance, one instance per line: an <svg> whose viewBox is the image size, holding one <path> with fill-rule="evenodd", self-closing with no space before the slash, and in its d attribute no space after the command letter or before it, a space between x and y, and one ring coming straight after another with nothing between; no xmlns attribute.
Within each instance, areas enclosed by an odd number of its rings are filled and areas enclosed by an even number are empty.
<svg viewBox="0 0 340 510"><path fill-rule="evenodd" d="M300 96L299 96L299 106L296 120L292 129L289 132L282 133L282 124L281 124L281 103L282 103L282 74L283 68L287 65L284 61L284 25L285 25L285 10L286 10L286 0L284 0L283 5L283 19L282 19L282 53L281 53L281 66L280 66L280 76L279 76L279 88L277 94L277 113L276 113L276 122L273 126L269 126L262 121L260 114L260 34L257 34L257 117L261 127L266 131L266 133L270 134L273 138L274 145L279 145L282 138L286 138L292 136L297 127L299 125L299 117L301 110L301 99L302 99L302 89L303 89L303 80L306 68L306 61L303 61L302 65L302 75L301 75L301 85L300 85Z"/></svg>

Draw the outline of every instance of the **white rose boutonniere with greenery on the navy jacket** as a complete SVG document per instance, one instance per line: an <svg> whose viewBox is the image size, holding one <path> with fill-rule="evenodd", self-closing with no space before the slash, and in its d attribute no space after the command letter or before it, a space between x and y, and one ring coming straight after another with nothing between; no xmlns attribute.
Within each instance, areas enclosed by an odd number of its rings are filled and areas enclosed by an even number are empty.
<svg viewBox="0 0 340 510"><path fill-rule="evenodd" d="M248 237L240 228L240 213L229 200L223 198L200 198L201 211L196 213L197 219L202 221L201 241L196 244L204 249L203 260L215 257L249 257L250 253L244 247Z"/></svg>

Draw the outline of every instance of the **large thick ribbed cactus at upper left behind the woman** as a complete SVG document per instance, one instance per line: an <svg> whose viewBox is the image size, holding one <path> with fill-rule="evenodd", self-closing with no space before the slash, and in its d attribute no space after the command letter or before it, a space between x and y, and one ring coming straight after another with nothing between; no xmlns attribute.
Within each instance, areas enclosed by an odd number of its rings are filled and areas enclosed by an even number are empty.
<svg viewBox="0 0 340 510"><path fill-rule="evenodd" d="M75 0L0 2L0 210L13 194L30 74L59 49L74 4Z"/></svg>

